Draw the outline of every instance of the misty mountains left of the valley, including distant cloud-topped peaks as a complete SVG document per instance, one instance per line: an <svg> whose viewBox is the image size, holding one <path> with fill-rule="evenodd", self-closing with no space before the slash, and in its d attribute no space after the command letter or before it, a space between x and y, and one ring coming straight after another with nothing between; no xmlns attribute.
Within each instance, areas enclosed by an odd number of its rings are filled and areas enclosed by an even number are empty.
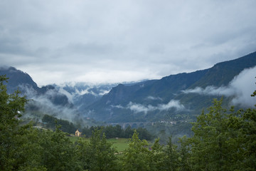
<svg viewBox="0 0 256 171"><path fill-rule="evenodd" d="M82 115L84 108L99 100L116 84L88 86L86 83L64 84L62 86L48 85L39 88L28 73L11 66L0 67L0 75L6 75L8 93L17 89L30 99L26 105L24 118L41 120L43 115L53 115L56 118L70 120L80 125L97 125L95 120Z"/></svg>

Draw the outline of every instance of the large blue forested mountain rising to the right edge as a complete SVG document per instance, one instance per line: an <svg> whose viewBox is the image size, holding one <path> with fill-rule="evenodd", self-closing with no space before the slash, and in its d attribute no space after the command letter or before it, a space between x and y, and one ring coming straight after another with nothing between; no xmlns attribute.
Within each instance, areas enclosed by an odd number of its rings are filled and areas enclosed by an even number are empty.
<svg viewBox="0 0 256 171"><path fill-rule="evenodd" d="M87 115L109 123L193 120L203 108L211 105L213 98L224 96L224 105L232 105L239 98L236 89L229 94L225 90L236 86L235 78L242 71L255 66L256 52L201 71L132 85L119 84L89 105Z"/></svg>

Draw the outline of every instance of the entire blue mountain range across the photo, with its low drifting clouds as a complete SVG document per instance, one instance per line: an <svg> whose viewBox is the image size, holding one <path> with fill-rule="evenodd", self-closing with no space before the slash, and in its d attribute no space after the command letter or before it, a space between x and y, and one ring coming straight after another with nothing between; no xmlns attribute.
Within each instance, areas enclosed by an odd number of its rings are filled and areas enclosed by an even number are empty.
<svg viewBox="0 0 256 171"><path fill-rule="evenodd" d="M159 80L105 85L65 83L41 88L28 73L14 67L1 67L0 75L9 77L9 93L18 88L33 99L27 105L33 115L47 113L68 120L93 118L107 123L183 122L194 120L213 98L223 97L225 106L253 106L255 103L247 97L255 90L255 66L256 52Z"/></svg>

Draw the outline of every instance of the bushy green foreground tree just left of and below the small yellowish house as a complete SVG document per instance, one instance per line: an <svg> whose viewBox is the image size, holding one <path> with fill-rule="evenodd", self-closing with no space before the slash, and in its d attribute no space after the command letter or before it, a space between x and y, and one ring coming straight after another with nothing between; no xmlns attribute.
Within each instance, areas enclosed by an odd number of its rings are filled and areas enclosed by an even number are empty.
<svg viewBox="0 0 256 171"><path fill-rule="evenodd" d="M48 170L80 170L75 145L57 126L54 132L41 131L41 164Z"/></svg>

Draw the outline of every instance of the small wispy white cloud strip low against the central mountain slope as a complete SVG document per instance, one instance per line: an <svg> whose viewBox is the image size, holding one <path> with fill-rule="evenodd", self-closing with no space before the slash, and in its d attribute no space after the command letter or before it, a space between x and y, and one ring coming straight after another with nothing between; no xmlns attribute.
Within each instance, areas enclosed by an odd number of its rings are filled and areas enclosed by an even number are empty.
<svg viewBox="0 0 256 171"><path fill-rule="evenodd" d="M157 106L153 105L142 105L138 103L129 102L127 109L134 111L134 113L148 113L154 110L169 110L175 108L176 110L185 110L184 106L178 100L170 100L167 104L159 104Z"/></svg>

